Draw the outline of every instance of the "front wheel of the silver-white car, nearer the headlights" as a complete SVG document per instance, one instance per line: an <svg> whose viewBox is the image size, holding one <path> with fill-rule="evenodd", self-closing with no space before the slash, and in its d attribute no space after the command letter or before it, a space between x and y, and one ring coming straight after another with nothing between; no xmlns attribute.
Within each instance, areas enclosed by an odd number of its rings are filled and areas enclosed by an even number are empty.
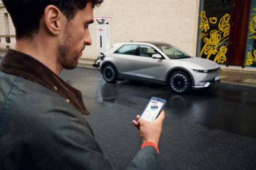
<svg viewBox="0 0 256 170"><path fill-rule="evenodd" d="M175 71L170 75L168 85L173 92L185 93L191 89L191 80L187 73Z"/></svg>

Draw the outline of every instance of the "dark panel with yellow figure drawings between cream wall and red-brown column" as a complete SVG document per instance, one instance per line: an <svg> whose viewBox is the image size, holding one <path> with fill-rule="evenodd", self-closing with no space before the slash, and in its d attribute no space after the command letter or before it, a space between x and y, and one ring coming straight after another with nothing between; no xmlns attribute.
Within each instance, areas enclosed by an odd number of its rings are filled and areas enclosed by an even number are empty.
<svg viewBox="0 0 256 170"><path fill-rule="evenodd" d="M230 35L231 8L231 1L201 1L198 57L225 64Z"/></svg>

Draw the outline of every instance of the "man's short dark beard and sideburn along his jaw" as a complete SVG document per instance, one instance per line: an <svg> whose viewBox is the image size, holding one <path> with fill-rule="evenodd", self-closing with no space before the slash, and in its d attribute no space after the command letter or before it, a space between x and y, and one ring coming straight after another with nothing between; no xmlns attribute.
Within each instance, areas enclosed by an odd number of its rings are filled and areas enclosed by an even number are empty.
<svg viewBox="0 0 256 170"><path fill-rule="evenodd" d="M78 64L78 58L79 56L72 56L72 45L70 42L71 34L67 29L67 32L65 32L65 38L63 39L63 43L58 46L58 60L60 61L61 66L64 69L74 69L76 68Z"/></svg>

